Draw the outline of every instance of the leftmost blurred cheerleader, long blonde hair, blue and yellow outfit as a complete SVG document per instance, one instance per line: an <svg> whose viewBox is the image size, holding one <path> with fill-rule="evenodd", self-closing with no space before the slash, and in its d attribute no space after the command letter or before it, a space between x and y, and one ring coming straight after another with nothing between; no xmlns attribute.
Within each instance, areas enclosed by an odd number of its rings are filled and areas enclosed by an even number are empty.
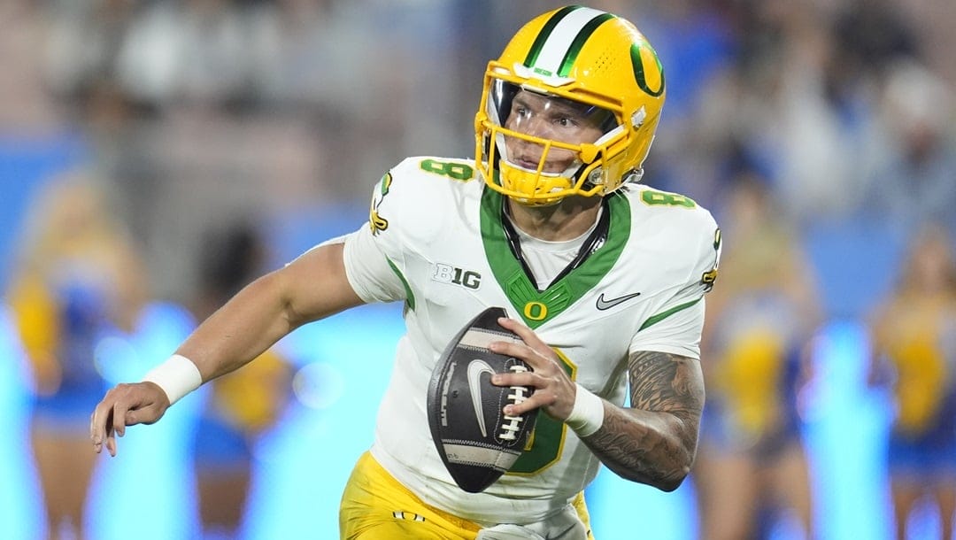
<svg viewBox="0 0 956 540"><path fill-rule="evenodd" d="M33 205L9 298L33 366L33 455L50 538L81 538L93 471L89 414L105 384L98 339L131 329L144 272L104 194L81 175L50 184Z"/></svg>

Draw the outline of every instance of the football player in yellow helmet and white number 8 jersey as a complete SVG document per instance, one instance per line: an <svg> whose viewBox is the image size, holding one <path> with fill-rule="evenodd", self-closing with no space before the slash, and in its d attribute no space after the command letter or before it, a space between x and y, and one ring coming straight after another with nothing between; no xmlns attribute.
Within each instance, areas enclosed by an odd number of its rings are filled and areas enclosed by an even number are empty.
<svg viewBox="0 0 956 540"><path fill-rule="evenodd" d="M256 280L142 382L107 393L95 448L115 454L126 426L159 420L302 324L402 301L407 333L342 498L342 538L591 538L582 493L600 464L676 488L704 405L720 234L692 200L639 184L664 96L632 23L578 6L534 18L489 63L473 161L395 166L367 226ZM495 352L533 368L495 376L534 389L504 412L545 414L508 474L472 494L446 471L425 400L445 345L489 306L507 307L500 323L522 338Z"/></svg>

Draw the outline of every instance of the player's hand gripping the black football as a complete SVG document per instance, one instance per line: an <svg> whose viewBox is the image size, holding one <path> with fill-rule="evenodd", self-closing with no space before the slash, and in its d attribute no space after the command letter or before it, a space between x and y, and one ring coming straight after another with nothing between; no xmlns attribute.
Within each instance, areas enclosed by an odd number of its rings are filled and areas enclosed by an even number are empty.
<svg viewBox="0 0 956 540"><path fill-rule="evenodd" d="M534 389L527 400L506 406L505 414L517 416L540 407L554 420L565 421L575 407L577 386L561 367L557 354L521 322L501 317L498 324L517 334L522 341L495 341L489 344L489 349L499 355L520 358L534 370L496 374L491 378L491 382L498 386L530 386Z"/></svg>

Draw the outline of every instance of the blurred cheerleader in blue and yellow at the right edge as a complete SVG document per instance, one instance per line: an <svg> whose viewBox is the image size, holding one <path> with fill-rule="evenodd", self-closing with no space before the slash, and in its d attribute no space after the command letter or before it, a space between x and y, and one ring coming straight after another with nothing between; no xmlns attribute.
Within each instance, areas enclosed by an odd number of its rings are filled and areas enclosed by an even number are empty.
<svg viewBox="0 0 956 540"><path fill-rule="evenodd" d="M893 389L888 470L896 537L914 508L939 511L940 538L956 512L956 259L951 238L926 227L914 238L902 277L872 324L874 384Z"/></svg>

